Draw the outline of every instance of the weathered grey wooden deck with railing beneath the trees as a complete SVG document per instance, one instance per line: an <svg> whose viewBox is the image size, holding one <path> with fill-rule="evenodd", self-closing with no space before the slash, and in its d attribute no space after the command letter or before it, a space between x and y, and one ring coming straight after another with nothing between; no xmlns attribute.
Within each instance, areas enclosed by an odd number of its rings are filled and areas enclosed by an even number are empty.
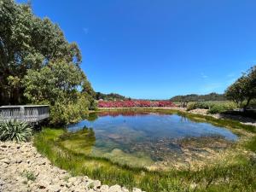
<svg viewBox="0 0 256 192"><path fill-rule="evenodd" d="M16 119L29 123L38 123L49 118L48 105L17 105L0 107L0 119Z"/></svg>

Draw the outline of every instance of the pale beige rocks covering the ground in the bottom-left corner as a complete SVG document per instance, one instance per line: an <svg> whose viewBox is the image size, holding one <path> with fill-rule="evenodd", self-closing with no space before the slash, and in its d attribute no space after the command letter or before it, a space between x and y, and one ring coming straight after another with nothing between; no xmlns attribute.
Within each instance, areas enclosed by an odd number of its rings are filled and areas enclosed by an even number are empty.
<svg viewBox="0 0 256 192"><path fill-rule="evenodd" d="M102 185L87 176L72 177L51 165L32 143L0 142L0 192L129 192L118 184ZM132 192L142 192L134 188Z"/></svg>

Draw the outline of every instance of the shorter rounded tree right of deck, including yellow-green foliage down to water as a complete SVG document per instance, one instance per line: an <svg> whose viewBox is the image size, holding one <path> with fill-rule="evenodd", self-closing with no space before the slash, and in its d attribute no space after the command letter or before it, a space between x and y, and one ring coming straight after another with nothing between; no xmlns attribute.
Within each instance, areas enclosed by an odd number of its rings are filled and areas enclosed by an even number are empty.
<svg viewBox="0 0 256 192"><path fill-rule="evenodd" d="M88 81L81 69L66 61L49 62L37 71L28 70L23 80L25 96L30 101L50 105L50 123L54 125L84 119L94 102L92 96L78 90L85 82Z"/></svg>

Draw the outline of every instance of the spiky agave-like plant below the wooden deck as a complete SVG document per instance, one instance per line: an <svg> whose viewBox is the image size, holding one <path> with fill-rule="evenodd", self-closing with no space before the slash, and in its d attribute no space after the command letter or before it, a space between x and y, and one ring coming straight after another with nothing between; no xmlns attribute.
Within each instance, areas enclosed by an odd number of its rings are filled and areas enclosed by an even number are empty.
<svg viewBox="0 0 256 192"><path fill-rule="evenodd" d="M0 140L26 142L32 136L32 127L24 121L7 120L0 122Z"/></svg>

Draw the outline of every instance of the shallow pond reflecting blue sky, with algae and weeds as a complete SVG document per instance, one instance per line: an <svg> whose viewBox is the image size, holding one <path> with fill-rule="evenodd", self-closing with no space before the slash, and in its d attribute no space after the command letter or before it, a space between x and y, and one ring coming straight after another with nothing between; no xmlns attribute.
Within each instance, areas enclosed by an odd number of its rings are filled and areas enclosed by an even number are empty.
<svg viewBox="0 0 256 192"><path fill-rule="evenodd" d="M177 114L134 111L91 113L67 130L61 138L66 148L149 169L212 159L238 139L226 128Z"/></svg>

